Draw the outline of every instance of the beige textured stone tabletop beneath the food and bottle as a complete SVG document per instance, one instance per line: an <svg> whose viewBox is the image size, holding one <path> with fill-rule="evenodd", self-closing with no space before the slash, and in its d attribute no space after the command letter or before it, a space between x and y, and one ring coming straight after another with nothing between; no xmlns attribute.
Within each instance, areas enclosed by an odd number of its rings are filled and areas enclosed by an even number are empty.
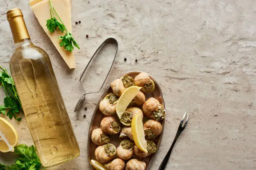
<svg viewBox="0 0 256 170"><path fill-rule="evenodd" d="M61 59L27 0L1 0L0 64L8 67L14 51L5 15L13 7L22 9L33 42L51 58L81 150L79 158L51 169L90 167L87 133L103 90L87 96L87 111L73 109L82 93L79 76L107 37L119 42L108 83L124 72L142 70L156 78L164 93L166 126L151 170L160 165L185 111L191 117L166 169L256 169L255 0L72 0L73 34L81 46L74 51L74 70ZM82 23L75 25L78 20ZM1 90L1 102L3 95ZM25 118L11 122L19 143L31 145ZM12 154L0 153L0 163L13 160Z"/></svg>

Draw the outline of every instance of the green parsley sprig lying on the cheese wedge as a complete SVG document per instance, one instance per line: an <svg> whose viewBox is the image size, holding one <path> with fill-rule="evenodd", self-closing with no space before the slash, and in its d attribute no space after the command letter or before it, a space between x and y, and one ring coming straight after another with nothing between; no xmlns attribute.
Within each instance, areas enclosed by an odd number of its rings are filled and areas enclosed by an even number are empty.
<svg viewBox="0 0 256 170"><path fill-rule="evenodd" d="M65 25L62 22L61 18L59 17L58 13L56 12L55 8L53 7L51 0L49 0L49 2L50 2L51 19L46 20L47 29L51 33L53 33L57 29L59 29L61 32L65 32L64 36L58 37L59 39L61 39L61 42L59 43L59 45L61 47L64 47L65 50L72 52L74 50L74 46L77 47L78 49L80 49L79 44L77 44L73 35L70 32L68 32L67 28L65 27Z"/></svg>

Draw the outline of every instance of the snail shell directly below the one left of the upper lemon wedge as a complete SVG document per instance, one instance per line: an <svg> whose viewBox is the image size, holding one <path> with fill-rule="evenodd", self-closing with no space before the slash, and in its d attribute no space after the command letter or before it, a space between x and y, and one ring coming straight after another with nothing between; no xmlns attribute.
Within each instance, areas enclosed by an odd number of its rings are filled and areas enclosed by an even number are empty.
<svg viewBox="0 0 256 170"><path fill-rule="evenodd" d="M100 128L108 135L118 134L121 130L120 123L113 116L104 117L100 122Z"/></svg>

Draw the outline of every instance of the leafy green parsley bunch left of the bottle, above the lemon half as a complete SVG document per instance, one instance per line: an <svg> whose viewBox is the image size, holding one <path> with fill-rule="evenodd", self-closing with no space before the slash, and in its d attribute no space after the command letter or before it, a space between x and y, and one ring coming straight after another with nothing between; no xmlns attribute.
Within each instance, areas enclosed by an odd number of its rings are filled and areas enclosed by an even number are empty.
<svg viewBox="0 0 256 170"><path fill-rule="evenodd" d="M23 112L23 110L13 82L13 78L8 74L5 68L2 66L0 66L0 68L2 69L2 71L0 71L0 88L3 87L6 95L4 98L4 105L0 105L0 114L5 115L5 110L8 110L6 115L9 116L10 119L14 117L19 122L21 117L17 117L16 114L20 111Z"/></svg>

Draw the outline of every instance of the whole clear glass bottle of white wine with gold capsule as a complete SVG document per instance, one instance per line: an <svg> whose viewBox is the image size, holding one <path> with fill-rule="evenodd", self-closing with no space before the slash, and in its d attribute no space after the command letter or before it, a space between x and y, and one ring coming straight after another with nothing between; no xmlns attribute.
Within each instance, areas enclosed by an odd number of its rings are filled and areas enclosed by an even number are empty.
<svg viewBox="0 0 256 170"><path fill-rule="evenodd" d="M20 9L7 12L15 42L10 72L44 167L79 156L79 146L49 56L33 45Z"/></svg>

